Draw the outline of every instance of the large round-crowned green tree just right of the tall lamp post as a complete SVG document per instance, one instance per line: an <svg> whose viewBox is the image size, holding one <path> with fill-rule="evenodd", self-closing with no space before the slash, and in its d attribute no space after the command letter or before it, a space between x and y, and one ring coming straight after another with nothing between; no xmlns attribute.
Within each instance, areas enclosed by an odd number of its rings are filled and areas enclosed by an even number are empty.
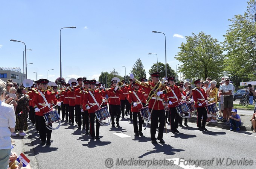
<svg viewBox="0 0 256 169"><path fill-rule="evenodd" d="M200 32L198 35L186 36L186 43L182 43L180 52L175 59L183 63L179 72L184 78L191 80L207 77L218 79L222 74L224 56L221 45L211 35Z"/></svg>

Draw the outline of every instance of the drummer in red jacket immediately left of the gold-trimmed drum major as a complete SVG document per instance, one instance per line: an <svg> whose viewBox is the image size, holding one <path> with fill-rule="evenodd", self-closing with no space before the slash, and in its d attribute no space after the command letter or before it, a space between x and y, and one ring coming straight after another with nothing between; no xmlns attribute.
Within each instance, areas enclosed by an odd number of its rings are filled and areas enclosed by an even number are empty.
<svg viewBox="0 0 256 169"><path fill-rule="evenodd" d="M131 112L133 112L133 130L136 136L143 136L142 133L142 124L143 119L139 113L139 110L142 109L142 100L144 98L144 92L139 91L139 85L134 83L134 91L129 91L128 101L132 105ZM139 129L137 124L137 117L139 117Z"/></svg>

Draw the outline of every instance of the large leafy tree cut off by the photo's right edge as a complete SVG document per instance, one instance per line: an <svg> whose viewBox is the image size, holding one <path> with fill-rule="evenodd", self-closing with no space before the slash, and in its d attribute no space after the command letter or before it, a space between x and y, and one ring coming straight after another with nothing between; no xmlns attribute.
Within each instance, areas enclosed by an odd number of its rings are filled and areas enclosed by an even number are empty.
<svg viewBox="0 0 256 169"><path fill-rule="evenodd" d="M256 80L256 2L250 0L244 15L235 15L227 30L224 48L227 51L225 70L242 81Z"/></svg>

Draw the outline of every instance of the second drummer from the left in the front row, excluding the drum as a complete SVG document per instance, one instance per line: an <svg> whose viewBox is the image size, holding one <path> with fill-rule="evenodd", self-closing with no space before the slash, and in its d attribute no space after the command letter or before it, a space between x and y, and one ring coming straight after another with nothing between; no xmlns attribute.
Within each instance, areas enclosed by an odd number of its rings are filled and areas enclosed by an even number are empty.
<svg viewBox="0 0 256 169"><path fill-rule="evenodd" d="M85 91L84 101L88 103L85 105L88 110L90 116L90 134L92 139L100 139L99 138L99 121L95 116L95 111L99 109L99 105L102 102L106 102L105 99L101 96L101 91L95 90L96 80L90 80L90 89ZM94 131L94 123L96 119L96 136Z"/></svg>

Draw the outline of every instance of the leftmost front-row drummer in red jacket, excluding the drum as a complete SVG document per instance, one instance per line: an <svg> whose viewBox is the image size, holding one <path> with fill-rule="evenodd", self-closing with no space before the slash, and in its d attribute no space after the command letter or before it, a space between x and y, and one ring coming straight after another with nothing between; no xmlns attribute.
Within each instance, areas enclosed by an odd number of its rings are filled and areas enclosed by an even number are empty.
<svg viewBox="0 0 256 169"><path fill-rule="evenodd" d="M52 104L51 104L52 101L54 104L58 104L58 106L61 106L61 103L59 103L55 97L55 92L50 92L47 90L48 82L49 80L47 79L40 80L41 90L39 89L38 92L36 92L36 95L33 98L33 102L32 102L33 107L35 109L35 115L37 116L39 134L42 141L41 143L42 145L44 145L45 143L51 144L50 139L52 135L52 130L49 130L46 128L43 114L51 110L50 108L52 107ZM46 142L46 137L47 137L47 142Z"/></svg>

